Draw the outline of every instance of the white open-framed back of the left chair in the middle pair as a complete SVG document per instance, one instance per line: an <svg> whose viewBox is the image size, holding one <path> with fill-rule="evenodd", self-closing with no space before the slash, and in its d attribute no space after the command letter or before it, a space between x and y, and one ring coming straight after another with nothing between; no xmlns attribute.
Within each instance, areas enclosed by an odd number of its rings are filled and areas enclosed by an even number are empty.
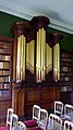
<svg viewBox="0 0 73 130"><path fill-rule="evenodd" d="M40 107L38 105L33 106L33 119L35 119L37 122L40 119Z"/></svg>

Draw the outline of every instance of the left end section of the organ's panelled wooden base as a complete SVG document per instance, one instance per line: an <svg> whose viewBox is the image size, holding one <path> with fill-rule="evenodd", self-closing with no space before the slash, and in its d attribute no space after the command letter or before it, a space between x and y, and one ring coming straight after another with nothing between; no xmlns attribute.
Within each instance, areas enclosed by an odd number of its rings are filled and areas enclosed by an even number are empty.
<svg viewBox="0 0 73 130"><path fill-rule="evenodd" d="M24 115L25 90L14 87L12 90L12 108L19 116Z"/></svg>

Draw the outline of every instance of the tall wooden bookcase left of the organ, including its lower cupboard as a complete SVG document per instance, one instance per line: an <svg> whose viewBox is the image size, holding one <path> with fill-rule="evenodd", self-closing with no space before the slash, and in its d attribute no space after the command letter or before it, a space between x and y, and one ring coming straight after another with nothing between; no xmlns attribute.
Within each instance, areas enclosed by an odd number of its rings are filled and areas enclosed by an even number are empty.
<svg viewBox="0 0 73 130"><path fill-rule="evenodd" d="M0 126L5 123L7 110L11 106L13 38L0 36Z"/></svg>

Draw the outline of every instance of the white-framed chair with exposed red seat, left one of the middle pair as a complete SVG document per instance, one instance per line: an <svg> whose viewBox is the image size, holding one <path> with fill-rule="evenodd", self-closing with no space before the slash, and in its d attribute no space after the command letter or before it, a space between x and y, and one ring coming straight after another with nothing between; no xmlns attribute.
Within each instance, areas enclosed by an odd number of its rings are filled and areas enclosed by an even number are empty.
<svg viewBox="0 0 73 130"><path fill-rule="evenodd" d="M33 119L24 120L26 128L37 127L40 119L40 107L38 105L33 106Z"/></svg>

